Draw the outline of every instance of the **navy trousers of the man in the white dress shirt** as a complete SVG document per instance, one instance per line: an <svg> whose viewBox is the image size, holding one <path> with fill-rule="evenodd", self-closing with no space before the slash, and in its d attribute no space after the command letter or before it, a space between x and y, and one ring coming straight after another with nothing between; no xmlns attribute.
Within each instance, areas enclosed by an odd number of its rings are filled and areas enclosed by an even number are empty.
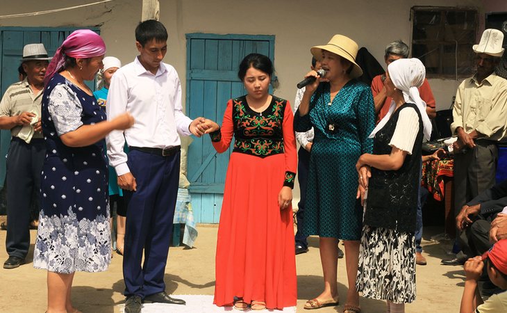
<svg viewBox="0 0 507 313"><path fill-rule="evenodd" d="M180 152L162 157L131 150L127 164L135 177L137 191L124 191L128 203L123 258L125 296L144 298L165 291L165 264L178 195Z"/></svg>

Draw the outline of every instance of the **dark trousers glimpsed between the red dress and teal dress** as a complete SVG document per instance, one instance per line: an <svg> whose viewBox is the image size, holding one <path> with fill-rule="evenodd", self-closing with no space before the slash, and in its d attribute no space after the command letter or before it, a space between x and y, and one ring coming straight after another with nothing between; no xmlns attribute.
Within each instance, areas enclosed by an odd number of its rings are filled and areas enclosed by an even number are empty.
<svg viewBox="0 0 507 313"><path fill-rule="evenodd" d="M297 233L295 237L296 245L301 245L304 248L308 247L306 236L303 236L303 223L304 223L304 204L306 201L306 185L308 183L308 168L310 166L310 152L306 151L304 147L299 148L298 163L297 163L297 177L299 182L299 202L297 204Z"/></svg>

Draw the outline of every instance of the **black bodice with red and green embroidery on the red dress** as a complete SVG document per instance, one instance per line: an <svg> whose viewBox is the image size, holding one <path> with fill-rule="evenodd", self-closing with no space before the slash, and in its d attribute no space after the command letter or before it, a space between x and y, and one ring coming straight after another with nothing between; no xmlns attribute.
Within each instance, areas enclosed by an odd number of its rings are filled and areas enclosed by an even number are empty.
<svg viewBox="0 0 507 313"><path fill-rule="evenodd" d="M258 113L250 109L244 96L233 99L234 151L258 157L283 153L286 104L285 100L273 97L268 108Z"/></svg>

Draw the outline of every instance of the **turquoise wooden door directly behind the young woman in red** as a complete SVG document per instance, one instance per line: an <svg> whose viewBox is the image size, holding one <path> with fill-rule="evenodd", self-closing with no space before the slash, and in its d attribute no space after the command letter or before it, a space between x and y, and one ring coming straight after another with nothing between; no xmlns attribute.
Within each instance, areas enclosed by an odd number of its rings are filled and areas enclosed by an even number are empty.
<svg viewBox="0 0 507 313"><path fill-rule="evenodd" d="M187 113L191 118L203 116L221 125L228 99L245 93L238 79L241 60L256 52L273 61L274 36L191 33L186 38ZM219 221L231 147L217 154L206 135L194 138L188 149L189 189L197 223Z"/></svg>

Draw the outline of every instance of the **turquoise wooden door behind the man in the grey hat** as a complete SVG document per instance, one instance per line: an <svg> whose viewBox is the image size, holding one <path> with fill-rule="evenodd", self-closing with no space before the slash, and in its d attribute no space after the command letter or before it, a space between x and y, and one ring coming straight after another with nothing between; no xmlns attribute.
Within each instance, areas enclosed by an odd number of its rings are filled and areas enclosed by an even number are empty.
<svg viewBox="0 0 507 313"><path fill-rule="evenodd" d="M17 67L21 65L23 47L30 43L42 42L49 56L55 54L67 35L75 31L75 27L33 28L33 27L0 27L0 91L1 96L7 88L17 81ZM97 27L92 31L99 33ZM87 83L92 90L93 82ZM10 131L0 131L0 188L6 176L6 154L10 143Z"/></svg>

